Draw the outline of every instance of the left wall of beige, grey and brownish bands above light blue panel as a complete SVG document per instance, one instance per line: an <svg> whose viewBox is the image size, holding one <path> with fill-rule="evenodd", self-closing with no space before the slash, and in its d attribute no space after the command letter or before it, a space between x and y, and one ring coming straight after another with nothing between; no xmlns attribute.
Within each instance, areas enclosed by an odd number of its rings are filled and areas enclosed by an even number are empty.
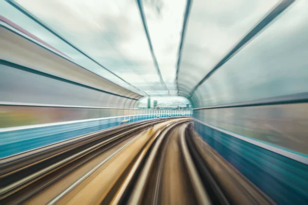
<svg viewBox="0 0 308 205"><path fill-rule="evenodd" d="M0 127L130 115L141 95L39 40L0 27Z"/></svg>

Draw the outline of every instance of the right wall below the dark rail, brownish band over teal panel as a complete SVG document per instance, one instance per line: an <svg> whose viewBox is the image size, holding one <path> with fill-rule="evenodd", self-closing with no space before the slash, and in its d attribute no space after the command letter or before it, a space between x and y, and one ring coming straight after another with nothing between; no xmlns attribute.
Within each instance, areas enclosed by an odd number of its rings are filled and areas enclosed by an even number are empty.
<svg viewBox="0 0 308 205"><path fill-rule="evenodd" d="M194 109L201 137L279 204L308 201L308 93Z"/></svg>

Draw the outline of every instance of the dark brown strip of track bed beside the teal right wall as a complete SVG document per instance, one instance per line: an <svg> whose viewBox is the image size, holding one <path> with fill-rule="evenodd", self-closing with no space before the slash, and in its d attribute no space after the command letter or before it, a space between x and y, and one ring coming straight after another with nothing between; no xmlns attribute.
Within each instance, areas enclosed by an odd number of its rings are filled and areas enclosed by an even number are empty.
<svg viewBox="0 0 308 205"><path fill-rule="evenodd" d="M192 124L188 125L184 136L192 161L213 204L275 204L211 148Z"/></svg>

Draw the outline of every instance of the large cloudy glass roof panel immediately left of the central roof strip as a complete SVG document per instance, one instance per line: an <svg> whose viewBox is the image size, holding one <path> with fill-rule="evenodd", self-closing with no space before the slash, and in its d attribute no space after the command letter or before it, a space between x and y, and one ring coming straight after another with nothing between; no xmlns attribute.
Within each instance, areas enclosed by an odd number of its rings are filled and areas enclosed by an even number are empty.
<svg viewBox="0 0 308 205"><path fill-rule="evenodd" d="M165 90L153 64L136 2L17 2L104 67L134 86L149 91L149 94ZM103 70L100 67L93 72L101 73Z"/></svg>

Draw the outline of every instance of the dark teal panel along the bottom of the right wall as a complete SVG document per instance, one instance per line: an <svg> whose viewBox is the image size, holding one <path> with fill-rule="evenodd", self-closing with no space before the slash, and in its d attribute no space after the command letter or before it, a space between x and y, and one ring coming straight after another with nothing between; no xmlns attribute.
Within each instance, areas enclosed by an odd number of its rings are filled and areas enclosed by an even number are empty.
<svg viewBox="0 0 308 205"><path fill-rule="evenodd" d="M201 137L279 204L308 204L308 166L195 121Z"/></svg>

